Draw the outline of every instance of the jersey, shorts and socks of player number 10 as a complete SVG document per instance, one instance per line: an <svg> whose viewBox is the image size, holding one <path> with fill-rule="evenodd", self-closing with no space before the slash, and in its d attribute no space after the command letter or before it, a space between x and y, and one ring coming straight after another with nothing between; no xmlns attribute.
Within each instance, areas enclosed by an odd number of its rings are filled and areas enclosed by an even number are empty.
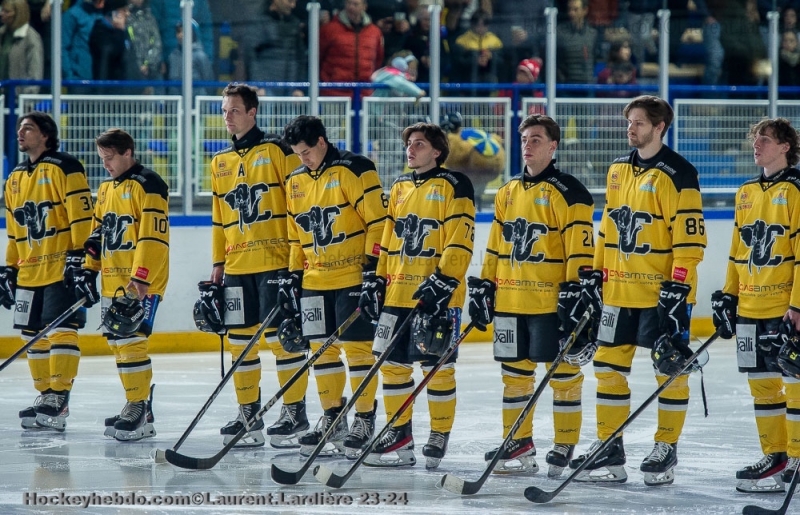
<svg viewBox="0 0 800 515"><path fill-rule="evenodd" d="M147 400L153 367L147 340L169 278L169 192L154 171L135 164L97 191L93 231L101 235L100 259L87 255L84 268L99 272L103 309L118 288L131 281L148 285L142 300L145 315L139 330L128 337L105 334L114 352L125 398Z"/></svg>

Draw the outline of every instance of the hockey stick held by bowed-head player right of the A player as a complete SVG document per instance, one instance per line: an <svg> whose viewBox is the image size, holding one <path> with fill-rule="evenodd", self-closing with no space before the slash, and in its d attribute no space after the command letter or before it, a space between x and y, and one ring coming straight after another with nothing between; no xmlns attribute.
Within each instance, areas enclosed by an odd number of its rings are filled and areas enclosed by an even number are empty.
<svg viewBox="0 0 800 515"><path fill-rule="evenodd" d="M211 456L210 458L195 458L192 456L186 456L185 454L176 452L174 449L167 449L166 451L164 451L164 458L166 459L166 461L175 465L176 467L192 469L192 470L207 470L214 467L214 465L219 463L219 460L221 460L226 454L228 454L228 452L231 449L233 449L233 447L239 442L239 440L244 438L244 436L250 432L250 428L253 427L253 425L256 422L264 418L264 415L267 414L267 411L269 411L270 408L272 408L272 406L274 406L275 403L277 403L278 400L281 397L283 397L283 394L286 393L286 391L289 388L291 388L292 385L294 385L294 383L296 383L297 380L303 376L303 374L308 372L308 369L311 368L311 365L313 365L314 362L317 361L320 358L320 356L322 356L322 354L328 349L328 347L333 345L336 342L336 340L339 339L342 333L344 333L347 330L347 328L350 327L350 325L356 321L356 319L360 316L360 314L361 312L358 309L353 311L353 313L349 317L347 317L347 320L345 320L342 323L342 325L340 325L339 328L336 329L336 332L333 333L330 336L330 338L325 340L325 342L317 350L317 352L312 354L308 358L308 360L306 360L303 366L300 367L297 370L297 372L292 374L292 377L290 377L289 380L286 381L286 384L284 384L280 388L280 390L278 390L275 393L275 395L273 395L272 398L269 401L267 401L267 403L264 404L264 406L262 406L261 409L258 410L258 412L255 413L245 423L244 427L240 429L239 432L236 433L236 435L234 435L233 439L231 439L231 441L228 442L225 445L225 447L223 447L222 450L220 450L217 454Z"/></svg>

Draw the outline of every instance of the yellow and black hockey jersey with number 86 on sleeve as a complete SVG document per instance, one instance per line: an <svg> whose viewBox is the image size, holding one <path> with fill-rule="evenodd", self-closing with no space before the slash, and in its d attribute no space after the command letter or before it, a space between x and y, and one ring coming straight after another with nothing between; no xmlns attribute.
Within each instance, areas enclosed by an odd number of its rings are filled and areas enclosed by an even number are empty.
<svg viewBox="0 0 800 515"><path fill-rule="evenodd" d="M652 308L662 281L692 286L706 230L697 170L667 146L646 163L637 150L608 169L594 268L603 270L603 301Z"/></svg>

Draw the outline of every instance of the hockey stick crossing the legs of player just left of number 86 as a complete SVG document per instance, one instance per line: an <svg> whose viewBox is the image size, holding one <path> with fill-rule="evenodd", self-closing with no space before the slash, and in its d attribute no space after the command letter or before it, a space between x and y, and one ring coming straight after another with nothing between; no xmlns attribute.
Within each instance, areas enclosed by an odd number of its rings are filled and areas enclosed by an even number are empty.
<svg viewBox="0 0 800 515"><path fill-rule="evenodd" d="M573 329L572 333L570 333L569 337L567 338L567 341L564 343L564 346L561 348L558 355L556 355L556 358L553 360L553 364L550 365L550 369L547 371L547 374L545 374L545 376L542 378L542 381L539 383L538 388L536 388L536 391L533 393L533 397L528 399L528 402L525 404L525 407L522 409L522 412L517 417L517 420L514 422L514 425L511 426L511 429L508 432L508 436L506 436L505 440L503 440L503 444L494 454L494 458L492 458L492 461L489 462L489 465L483 471L481 477L479 477L477 481L465 481L451 474L445 474L442 477L442 479L439 480L439 483L436 486L438 486L439 488L444 488L445 490L453 492L454 494L472 495L478 493L478 490L481 489L483 484L489 478L489 475L491 475L492 471L494 470L494 467L497 466L497 462L500 461L500 456L502 456L503 454L502 451L506 448L508 442L510 442L511 439L514 438L514 434L516 434L517 430L519 429L519 426L522 425L522 422L528 416L528 413L530 413L531 410L533 410L534 406L536 406L536 402L539 400L539 397L541 397L545 387L548 385L548 383L550 383L550 379L555 375L556 369L564 360L564 356L567 355L567 352L569 352L569 350L572 348L572 345L575 343L575 340L578 339L578 335L581 333L581 331L583 331L583 328L592 318L593 311L594 310L592 309L592 306L586 308L586 311L584 311L583 316L581 316L580 320L578 320L578 325L576 325L575 329Z"/></svg>

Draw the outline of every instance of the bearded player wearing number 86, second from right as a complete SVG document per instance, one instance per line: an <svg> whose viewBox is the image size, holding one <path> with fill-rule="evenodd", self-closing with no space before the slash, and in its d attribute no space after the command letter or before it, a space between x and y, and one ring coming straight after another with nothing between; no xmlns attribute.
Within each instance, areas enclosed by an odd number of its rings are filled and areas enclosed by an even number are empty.
<svg viewBox="0 0 800 515"><path fill-rule="evenodd" d="M665 347L689 349L685 340L690 306L695 303L697 265L706 246L697 170L661 142L672 123L672 108L645 95L628 103L623 114L628 120L628 144L634 149L608 169L606 207L594 256L594 274L603 277L604 306L594 356L599 440L589 453L610 438L630 413L627 376L636 347L652 349L659 340ZM672 354L657 354L666 355ZM660 359L656 365L660 385L669 375ZM688 404L689 378L681 375L658 399L655 445L640 467L648 486L674 480ZM587 455L570 466L577 468ZM619 436L576 479L624 482L624 464Z"/></svg>

